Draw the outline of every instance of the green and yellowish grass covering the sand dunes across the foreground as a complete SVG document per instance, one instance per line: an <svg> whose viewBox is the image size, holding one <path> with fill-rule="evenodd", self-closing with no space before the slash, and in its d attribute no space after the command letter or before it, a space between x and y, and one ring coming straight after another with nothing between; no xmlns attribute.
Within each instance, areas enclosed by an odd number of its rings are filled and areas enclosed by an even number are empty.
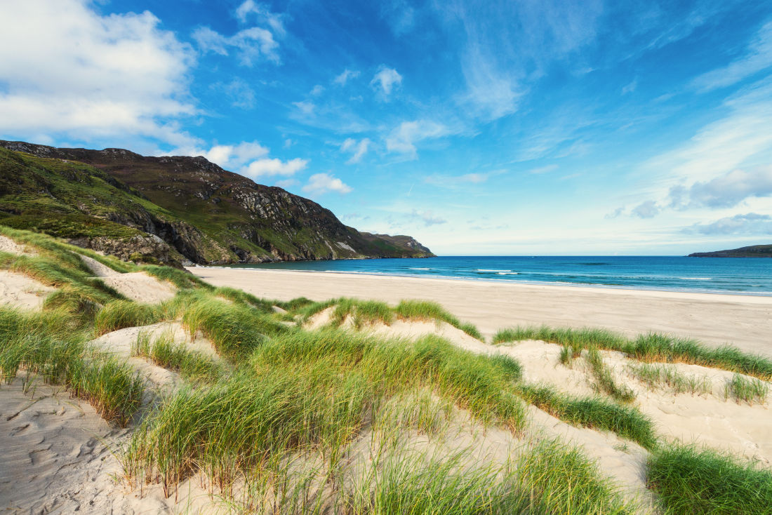
<svg viewBox="0 0 772 515"><path fill-rule="evenodd" d="M128 483L159 483L174 493L203 474L212 491L240 511L258 513L632 513L598 466L573 446L533 442L503 463L480 462L474 449L432 454L450 439L459 413L473 425L509 431L528 427L527 405L574 425L615 432L648 449L648 488L666 513L772 513L772 474L711 449L666 442L615 383L598 349L622 351L644 363L632 374L673 391L699 390L666 365L686 362L734 371L727 397L764 402L772 361L730 347L655 334L628 339L605 330L527 327L496 334L495 343L540 339L564 345L560 360L584 354L607 397L577 398L531 385L522 367L502 354L482 355L436 336L415 341L340 327L394 320L447 322L479 331L435 303L396 307L351 299L273 302L215 288L178 269L135 266L44 235L0 228L35 256L0 253L0 268L35 277L58 290L40 311L0 307L0 375L25 388L35 378L65 385L107 420L131 431L118 456ZM118 272L144 271L178 288L173 299L141 304L91 276L76 256ZM101 285L101 286L100 286ZM286 312L276 310L279 307ZM333 327L304 330L315 313L334 307ZM176 371L185 386L142 408L144 381L125 361L88 342L125 327L180 320L204 334L217 359L189 351L169 334L141 334L132 354ZM290 321L297 324L289 324ZM583 352L584 351L584 352ZM660 368L657 368L660 367ZM739 374L749 374L750 380ZM2 395L2 388L0 388ZM351 449L372 439L370 461L351 469Z"/></svg>

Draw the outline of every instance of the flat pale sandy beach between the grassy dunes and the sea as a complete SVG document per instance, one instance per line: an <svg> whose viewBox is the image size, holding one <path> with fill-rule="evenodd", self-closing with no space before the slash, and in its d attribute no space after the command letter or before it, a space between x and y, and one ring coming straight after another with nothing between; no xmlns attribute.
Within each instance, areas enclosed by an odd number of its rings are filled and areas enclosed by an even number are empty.
<svg viewBox="0 0 772 515"><path fill-rule="evenodd" d="M772 356L772 297L719 293L542 286L466 280L423 279L352 273L191 267L215 286L240 288L259 297L289 300L339 296L397 303L441 303L486 337L518 324L605 327L633 336L655 331L706 344L732 344Z"/></svg>

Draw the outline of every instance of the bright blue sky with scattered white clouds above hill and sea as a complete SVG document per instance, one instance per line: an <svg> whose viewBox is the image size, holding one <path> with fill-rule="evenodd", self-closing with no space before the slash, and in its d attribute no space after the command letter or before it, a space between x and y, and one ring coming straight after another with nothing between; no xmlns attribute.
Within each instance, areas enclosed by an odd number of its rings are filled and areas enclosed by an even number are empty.
<svg viewBox="0 0 772 515"><path fill-rule="evenodd" d="M445 255L772 242L772 2L0 3L0 138L205 155Z"/></svg>

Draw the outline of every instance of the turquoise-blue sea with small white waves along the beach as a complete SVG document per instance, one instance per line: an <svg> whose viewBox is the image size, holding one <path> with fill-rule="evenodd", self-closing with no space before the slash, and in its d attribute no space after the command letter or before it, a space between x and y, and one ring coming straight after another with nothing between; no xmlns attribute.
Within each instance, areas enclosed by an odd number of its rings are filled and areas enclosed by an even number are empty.
<svg viewBox="0 0 772 515"><path fill-rule="evenodd" d="M772 295L772 259L764 258L442 256L266 263L238 267Z"/></svg>

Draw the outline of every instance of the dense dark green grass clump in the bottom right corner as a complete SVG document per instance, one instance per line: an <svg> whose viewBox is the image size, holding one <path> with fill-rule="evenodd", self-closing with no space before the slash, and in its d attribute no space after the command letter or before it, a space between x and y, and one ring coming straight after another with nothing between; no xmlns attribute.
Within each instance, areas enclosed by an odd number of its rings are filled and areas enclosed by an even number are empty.
<svg viewBox="0 0 772 515"><path fill-rule="evenodd" d="M713 449L662 446L648 458L647 482L666 513L772 513L772 473Z"/></svg>

